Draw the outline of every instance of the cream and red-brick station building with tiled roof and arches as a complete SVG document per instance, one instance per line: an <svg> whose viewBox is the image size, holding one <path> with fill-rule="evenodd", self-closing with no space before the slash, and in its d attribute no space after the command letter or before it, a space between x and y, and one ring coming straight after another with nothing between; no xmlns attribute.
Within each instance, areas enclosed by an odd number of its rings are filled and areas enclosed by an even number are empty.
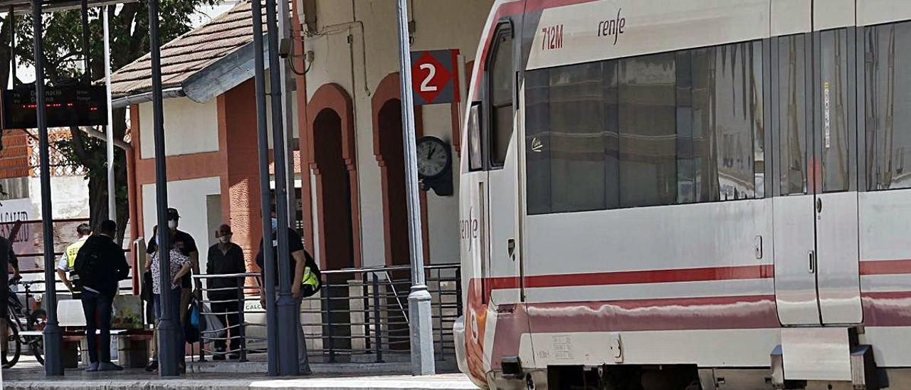
<svg viewBox="0 0 911 390"><path fill-rule="evenodd" d="M457 50L458 73L469 79L492 3L410 2L411 50ZM395 2L303 0L292 2L291 14L286 121L296 227L324 269L408 264ZM220 223L230 223L250 271L261 238L252 69L249 2L162 47L169 205L200 249L215 242ZM149 79L148 56L112 79L115 106L129 109L135 150L128 161L130 221L137 222L130 237L150 236L156 221ZM416 135L451 148L455 189L460 109L415 108ZM422 191L421 219L425 262L458 262L455 195ZM200 250L200 264L205 254Z"/></svg>

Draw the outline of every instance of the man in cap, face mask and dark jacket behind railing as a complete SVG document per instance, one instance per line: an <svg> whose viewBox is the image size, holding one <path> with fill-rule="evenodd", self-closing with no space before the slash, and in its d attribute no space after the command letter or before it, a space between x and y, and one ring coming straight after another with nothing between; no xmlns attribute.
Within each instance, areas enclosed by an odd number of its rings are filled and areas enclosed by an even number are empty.
<svg viewBox="0 0 911 390"><path fill-rule="evenodd" d="M246 262L243 259L243 250L241 246L231 242L233 233L230 226L223 224L215 231L215 237L219 242L209 248L209 260L206 261L206 273L210 275L226 275L231 273L247 272ZM215 341L216 353L212 356L215 360L224 360L225 355L229 359L237 359L241 350L242 340L239 337L237 328L232 326L243 323L241 318L240 306L238 299L238 288L241 287L241 278L210 278L207 280L209 291L209 301L211 303L212 313L221 323L228 328L225 337L230 337L230 350L225 351L225 341Z"/></svg>

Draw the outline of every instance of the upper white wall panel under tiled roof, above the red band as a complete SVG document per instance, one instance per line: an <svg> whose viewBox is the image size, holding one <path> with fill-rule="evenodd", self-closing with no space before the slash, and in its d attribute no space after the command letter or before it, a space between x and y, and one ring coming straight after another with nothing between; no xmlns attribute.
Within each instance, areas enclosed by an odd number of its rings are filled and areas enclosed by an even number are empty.
<svg viewBox="0 0 911 390"><path fill-rule="evenodd" d="M251 103L252 104L252 103ZM164 100L165 153L168 156L217 151L219 120L216 99L197 103L187 97ZM139 141L142 159L155 157L152 103L139 104Z"/></svg>

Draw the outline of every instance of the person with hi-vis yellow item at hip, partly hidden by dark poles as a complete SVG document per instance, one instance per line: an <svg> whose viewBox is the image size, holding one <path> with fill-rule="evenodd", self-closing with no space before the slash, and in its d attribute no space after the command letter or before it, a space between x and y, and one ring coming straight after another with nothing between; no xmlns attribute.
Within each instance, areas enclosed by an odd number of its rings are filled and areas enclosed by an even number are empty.
<svg viewBox="0 0 911 390"><path fill-rule="evenodd" d="M279 268L278 264L277 264L278 263L278 252L279 252L279 246L278 246L279 221L278 221L278 219L275 218L274 210L272 211L271 222L272 222L272 242L271 242L272 243L272 254L275 257L275 261L276 261L275 270L277 272L278 268ZM296 307L295 313L301 313L301 303L303 302L302 281L303 281L304 271L307 269L317 270L317 267L315 265L315 262L313 262L312 256L310 255L310 253L308 253L303 248L303 241L301 240L301 236L299 234L297 234L297 231L294 231L293 229L291 229L289 227L284 227L283 229L288 230L288 251L290 252L290 256L288 256L288 259L289 259L289 262L291 262L291 268L293 270L292 280L287 281L287 282L291 283L291 285L292 285L292 295L294 297L294 302L296 303L295 304L295 307ZM261 278L263 279L263 283L261 285L264 286L266 276L265 276L265 267L264 267L263 254L262 254L262 240L260 240L260 251L256 255L256 264L260 266ZM276 282L276 284L275 284L276 296L271 297L271 299L272 299L272 303L275 303L278 298L277 293L279 290L279 279L278 279L278 275L272 275L272 276L273 276L272 280L274 280ZM316 274L312 278L319 279L319 274ZM260 289L260 303L262 304L262 309L265 310L266 292L264 290L264 287L262 287ZM307 343L306 343L306 339L304 339L303 326L301 323L301 315L300 314L295 315L294 319L295 319L294 325L297 328L298 371L300 372L301 375L311 375L312 371L310 369L310 363L307 360Z"/></svg>

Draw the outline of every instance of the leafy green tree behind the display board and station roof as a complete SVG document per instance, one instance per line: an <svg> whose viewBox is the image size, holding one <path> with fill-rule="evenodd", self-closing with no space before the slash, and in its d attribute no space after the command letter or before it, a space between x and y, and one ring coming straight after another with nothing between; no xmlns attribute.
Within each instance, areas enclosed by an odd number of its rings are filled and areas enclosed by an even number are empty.
<svg viewBox="0 0 911 390"><path fill-rule="evenodd" d="M189 31L190 16L201 5L214 5L216 0L161 0L159 33L160 41L168 42ZM100 13L104 8L89 10L89 58L93 79L104 77L104 36ZM111 69L125 67L145 55L148 47L148 5L145 2L126 3L107 7L109 21ZM45 15L44 54L47 80L56 85L79 82L83 78L82 16L78 10ZM19 49L32 52L31 17L16 23ZM6 26L6 24L4 24ZM3 39L0 30L0 41ZM27 39L26 39L27 37ZM7 45L8 46L8 45ZM3 49L0 48L0 51ZM17 50L18 51L18 50ZM0 52L0 56L3 53ZM2 57L0 57L2 60ZM6 61L8 62L8 60ZM34 65L34 56L24 56L21 62ZM0 72L3 68L0 67ZM0 79L2 82L3 79ZM115 139L127 135L127 110L115 108L112 112ZM88 136L79 128L70 128L71 139L58 141L57 149L75 165L86 169L88 179L89 218L93 227L107 219L107 144L103 139ZM118 241L123 240L128 221L127 163L123 150L115 148L115 181L118 204ZM135 223L135 221L134 221Z"/></svg>

